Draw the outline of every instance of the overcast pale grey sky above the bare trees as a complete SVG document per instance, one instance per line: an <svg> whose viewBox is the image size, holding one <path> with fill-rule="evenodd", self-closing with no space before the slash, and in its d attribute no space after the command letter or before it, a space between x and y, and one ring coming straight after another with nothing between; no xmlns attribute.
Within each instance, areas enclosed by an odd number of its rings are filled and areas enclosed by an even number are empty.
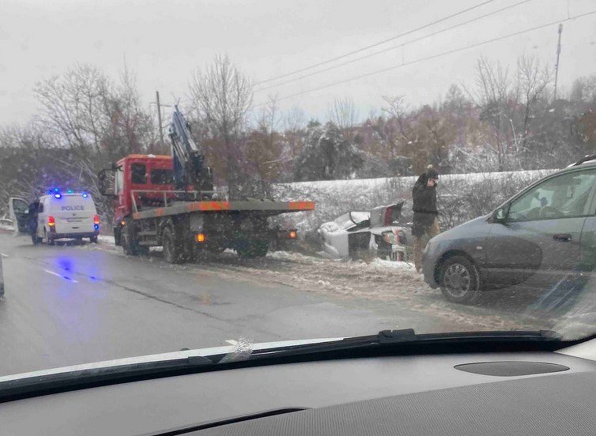
<svg viewBox="0 0 596 436"><path fill-rule="evenodd" d="M259 82L392 38L483 1L0 0L0 125L27 122L37 108L32 95L35 83L75 63L94 64L115 79L126 60L145 105L154 100L156 90L165 103L177 98L184 101L191 71L210 63L218 53L227 53L247 76ZM519 1L493 0L358 55L420 38ZM403 49L257 91L254 101L258 104L268 94L284 97L589 11L596 11L596 0L530 0ZM383 95L403 94L414 105L432 103L451 83L471 85L480 55L514 64L519 55L532 54L554 66L556 43L557 24L553 24L281 99L280 107L288 110L296 105L307 116L324 117L330 102L347 97L365 117L381 108ZM562 45L561 86L569 88L576 77L596 73L596 14L566 21Z"/></svg>

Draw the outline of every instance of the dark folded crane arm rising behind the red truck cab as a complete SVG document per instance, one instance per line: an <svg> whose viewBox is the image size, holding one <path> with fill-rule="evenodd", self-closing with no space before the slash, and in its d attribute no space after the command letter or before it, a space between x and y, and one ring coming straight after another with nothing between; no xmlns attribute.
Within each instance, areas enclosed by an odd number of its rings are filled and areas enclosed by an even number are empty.
<svg viewBox="0 0 596 436"><path fill-rule="evenodd" d="M172 142L172 170L175 189L186 191L193 186L197 191L213 191L213 175L204 165L205 155L191 136L190 125L175 105L170 124Z"/></svg>

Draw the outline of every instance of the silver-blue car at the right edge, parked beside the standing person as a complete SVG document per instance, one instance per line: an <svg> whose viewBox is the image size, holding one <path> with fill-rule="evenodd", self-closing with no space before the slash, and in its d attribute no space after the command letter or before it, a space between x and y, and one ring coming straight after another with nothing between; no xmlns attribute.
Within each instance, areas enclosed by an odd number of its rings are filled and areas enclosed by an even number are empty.
<svg viewBox="0 0 596 436"><path fill-rule="evenodd" d="M523 189L491 213L430 239L425 281L450 301L523 285L552 288L591 271L596 248L596 156Z"/></svg>

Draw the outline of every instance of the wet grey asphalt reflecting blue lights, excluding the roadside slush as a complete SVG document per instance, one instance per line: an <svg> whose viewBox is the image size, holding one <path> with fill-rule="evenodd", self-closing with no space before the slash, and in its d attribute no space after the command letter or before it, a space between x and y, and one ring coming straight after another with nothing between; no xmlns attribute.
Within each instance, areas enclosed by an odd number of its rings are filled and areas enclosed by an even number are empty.
<svg viewBox="0 0 596 436"><path fill-rule="evenodd" d="M72 244L33 247L0 233L0 375L119 357L370 334L391 316L225 270L171 266Z"/></svg>

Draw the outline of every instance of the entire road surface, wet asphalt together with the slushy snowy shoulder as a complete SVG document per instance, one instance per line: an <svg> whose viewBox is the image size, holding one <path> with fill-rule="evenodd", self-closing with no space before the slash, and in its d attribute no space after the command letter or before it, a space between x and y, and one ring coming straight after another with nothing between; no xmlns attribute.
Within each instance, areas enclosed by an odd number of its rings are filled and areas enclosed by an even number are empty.
<svg viewBox="0 0 596 436"><path fill-rule="evenodd" d="M107 244L33 247L0 233L0 375L224 344L373 334L542 328L510 307L443 301L403 264L273 253L202 264L126 257Z"/></svg>

